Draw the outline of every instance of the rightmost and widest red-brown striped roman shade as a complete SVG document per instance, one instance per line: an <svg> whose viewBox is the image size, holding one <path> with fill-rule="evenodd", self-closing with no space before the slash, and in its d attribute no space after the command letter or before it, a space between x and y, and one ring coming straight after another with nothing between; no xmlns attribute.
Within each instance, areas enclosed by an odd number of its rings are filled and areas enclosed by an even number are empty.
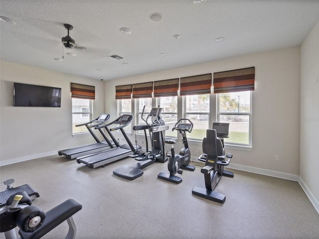
<svg viewBox="0 0 319 239"><path fill-rule="evenodd" d="M255 67L214 73L214 94L254 90Z"/></svg>

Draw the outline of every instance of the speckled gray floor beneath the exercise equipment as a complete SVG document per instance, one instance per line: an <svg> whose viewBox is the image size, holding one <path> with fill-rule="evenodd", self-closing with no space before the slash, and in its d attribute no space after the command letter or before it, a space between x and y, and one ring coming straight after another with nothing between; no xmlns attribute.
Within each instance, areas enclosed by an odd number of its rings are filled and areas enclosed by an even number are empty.
<svg viewBox="0 0 319 239"><path fill-rule="evenodd" d="M167 163L154 163L129 181L113 175L132 158L90 169L53 155L0 167L0 180L29 184L44 211L73 198L83 205L74 215L77 239L318 239L319 214L298 182L238 170L215 191L224 204L192 195L205 187L200 166L183 171L180 184L157 178ZM231 166L231 163L230 163ZM4 190L0 184L0 190ZM62 239L63 223L43 238ZM4 239L3 233L0 239Z"/></svg>

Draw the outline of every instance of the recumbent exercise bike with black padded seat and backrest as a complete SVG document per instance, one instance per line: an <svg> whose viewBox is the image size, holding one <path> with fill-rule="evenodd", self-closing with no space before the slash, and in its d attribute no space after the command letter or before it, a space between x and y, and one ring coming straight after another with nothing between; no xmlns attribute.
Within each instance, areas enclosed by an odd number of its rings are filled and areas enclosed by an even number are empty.
<svg viewBox="0 0 319 239"><path fill-rule="evenodd" d="M225 155L222 142L217 138L216 129L207 129L206 137L203 139L203 152L207 155L205 167L200 172L204 174L205 187L193 187L192 194L217 202L224 203L225 195L215 192L215 188L219 183L224 166L229 165L231 154Z"/></svg>

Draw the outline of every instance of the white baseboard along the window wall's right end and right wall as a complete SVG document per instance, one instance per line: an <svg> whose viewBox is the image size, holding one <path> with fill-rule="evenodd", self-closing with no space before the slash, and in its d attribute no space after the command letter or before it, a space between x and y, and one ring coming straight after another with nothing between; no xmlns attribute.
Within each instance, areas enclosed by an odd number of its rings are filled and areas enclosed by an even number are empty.
<svg viewBox="0 0 319 239"><path fill-rule="evenodd" d="M200 165L204 166L205 163L198 161L196 157L191 157L192 160L192 165ZM283 178L287 180L292 180L292 181L297 181L299 182L300 186L306 193L307 197L309 198L310 202L313 204L314 208L319 214L319 202L315 198L315 196L312 194L312 192L309 190L307 185L304 183L302 178L299 175L296 174L290 174L290 173L282 173L282 172L277 172L277 171L272 171L272 170L267 170L267 169L262 169L262 168L255 168L255 167L250 167L250 166L244 166L240 164L235 164L231 163L229 166L227 166L229 169L236 169L240 171L245 171L245 172L250 172L250 173L257 173L257 174L262 174L266 176L271 176L271 177L277 177L277 178Z"/></svg>

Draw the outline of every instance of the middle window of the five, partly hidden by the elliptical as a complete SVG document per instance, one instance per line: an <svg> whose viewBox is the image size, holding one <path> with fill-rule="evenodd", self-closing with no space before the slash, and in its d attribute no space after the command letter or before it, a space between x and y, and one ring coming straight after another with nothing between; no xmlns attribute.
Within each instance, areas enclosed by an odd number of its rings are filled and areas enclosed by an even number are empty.
<svg viewBox="0 0 319 239"><path fill-rule="evenodd" d="M176 137L177 131L171 131L171 129L177 122L177 96L158 97L157 99L158 105L163 109L160 116L169 126L169 129L165 131L165 136Z"/></svg>

